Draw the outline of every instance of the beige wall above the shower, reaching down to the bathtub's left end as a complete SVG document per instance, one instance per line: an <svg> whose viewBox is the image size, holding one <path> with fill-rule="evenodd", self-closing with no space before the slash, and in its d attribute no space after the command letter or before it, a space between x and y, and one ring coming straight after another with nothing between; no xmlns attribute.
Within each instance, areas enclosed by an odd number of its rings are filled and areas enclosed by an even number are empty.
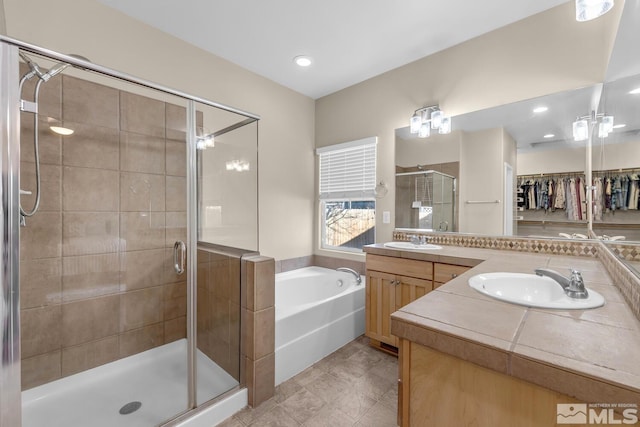
<svg viewBox="0 0 640 427"><path fill-rule="evenodd" d="M94 0L4 5L10 37L261 115L260 251L277 259L312 253L312 99Z"/></svg>

